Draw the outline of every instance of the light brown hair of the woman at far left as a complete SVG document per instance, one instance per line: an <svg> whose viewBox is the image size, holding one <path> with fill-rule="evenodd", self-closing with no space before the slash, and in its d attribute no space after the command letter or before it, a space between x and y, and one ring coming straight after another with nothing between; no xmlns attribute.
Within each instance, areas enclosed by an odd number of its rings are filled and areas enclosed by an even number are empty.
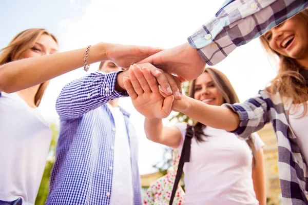
<svg viewBox="0 0 308 205"><path fill-rule="evenodd" d="M13 60L21 59L23 52L32 48L41 35L49 35L58 44L54 35L42 28L28 29L18 33L9 45L0 50L0 65L9 63ZM34 96L35 106L39 106L44 92L49 84L49 80L42 83Z"/></svg>

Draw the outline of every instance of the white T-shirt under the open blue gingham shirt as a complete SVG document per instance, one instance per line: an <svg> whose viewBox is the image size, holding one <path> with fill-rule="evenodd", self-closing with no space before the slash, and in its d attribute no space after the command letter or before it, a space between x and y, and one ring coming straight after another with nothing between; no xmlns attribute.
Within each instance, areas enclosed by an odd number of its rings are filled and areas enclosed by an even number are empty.
<svg viewBox="0 0 308 205"><path fill-rule="evenodd" d="M119 107L114 108L109 104L107 104L107 106L111 111L115 124L113 167L109 168L113 170L110 204L132 205L133 191L130 147L125 119ZM125 201L125 203L123 201Z"/></svg>

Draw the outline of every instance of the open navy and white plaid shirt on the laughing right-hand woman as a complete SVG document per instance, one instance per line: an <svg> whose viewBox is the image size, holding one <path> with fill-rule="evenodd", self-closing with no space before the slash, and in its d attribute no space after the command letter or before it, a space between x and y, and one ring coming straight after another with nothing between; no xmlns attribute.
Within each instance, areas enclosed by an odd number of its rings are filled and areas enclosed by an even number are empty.
<svg viewBox="0 0 308 205"><path fill-rule="evenodd" d="M307 164L300 154L296 136L289 124L288 111L292 99L281 97L277 92L259 94L242 104L224 104L240 117L239 127L233 131L243 139L247 139L271 121L278 142L278 173L282 193L282 204L304 205L307 190Z"/></svg>

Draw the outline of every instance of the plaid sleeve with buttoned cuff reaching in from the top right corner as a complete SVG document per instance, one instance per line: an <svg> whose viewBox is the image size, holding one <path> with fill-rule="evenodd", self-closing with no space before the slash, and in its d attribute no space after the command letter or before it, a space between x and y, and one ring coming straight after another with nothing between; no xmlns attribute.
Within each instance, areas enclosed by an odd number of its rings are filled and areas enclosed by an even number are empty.
<svg viewBox="0 0 308 205"><path fill-rule="evenodd" d="M187 39L206 64L213 66L307 5L306 0L229 0Z"/></svg>

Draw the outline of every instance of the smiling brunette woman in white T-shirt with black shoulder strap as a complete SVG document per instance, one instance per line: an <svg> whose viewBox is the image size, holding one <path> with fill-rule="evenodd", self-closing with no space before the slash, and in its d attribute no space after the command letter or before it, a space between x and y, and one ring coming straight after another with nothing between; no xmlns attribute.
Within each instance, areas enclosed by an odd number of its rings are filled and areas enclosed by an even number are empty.
<svg viewBox="0 0 308 205"><path fill-rule="evenodd" d="M124 85L134 107L146 117L144 128L147 138L181 151L186 123L163 126L162 119L148 114L168 113L172 97L166 98L161 110L157 109L164 99L159 97L155 79L148 75L146 68L143 71L138 66L130 69L134 90L129 80L125 80ZM145 76L143 80L142 72ZM192 81L189 95L204 104L217 107L239 101L227 77L213 68L206 68L201 76ZM155 102L155 99L160 100ZM244 141L235 134L200 122L194 126L194 133L190 161L184 164L183 169L184 204L266 204L261 148L264 144L257 134Z"/></svg>

